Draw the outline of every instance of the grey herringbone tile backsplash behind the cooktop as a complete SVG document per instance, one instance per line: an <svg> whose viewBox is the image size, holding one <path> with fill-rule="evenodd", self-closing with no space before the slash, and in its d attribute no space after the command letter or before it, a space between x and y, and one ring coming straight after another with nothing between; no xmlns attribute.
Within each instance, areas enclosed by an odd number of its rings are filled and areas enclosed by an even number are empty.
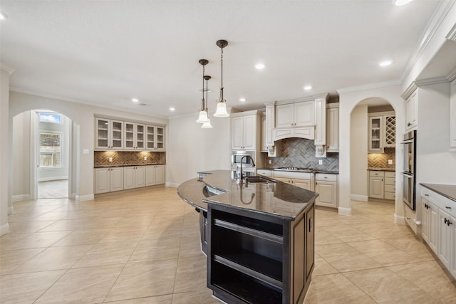
<svg viewBox="0 0 456 304"><path fill-rule="evenodd" d="M317 158L315 157L314 140L303 138L286 138L282 140L282 157L269 157L269 159L272 162L269 166L274 168L299 167L328 171L338 171L339 169L338 153L327 153L326 158ZM318 164L318 159L323 160L323 164Z"/></svg>

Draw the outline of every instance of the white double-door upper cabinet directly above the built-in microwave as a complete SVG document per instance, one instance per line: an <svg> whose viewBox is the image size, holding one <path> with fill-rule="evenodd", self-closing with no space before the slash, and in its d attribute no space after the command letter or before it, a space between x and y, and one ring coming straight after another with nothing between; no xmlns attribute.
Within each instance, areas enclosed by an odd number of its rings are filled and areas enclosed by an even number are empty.
<svg viewBox="0 0 456 304"><path fill-rule="evenodd" d="M232 149L257 150L257 114L234 116L231 119ZM259 148L259 147L258 147Z"/></svg>

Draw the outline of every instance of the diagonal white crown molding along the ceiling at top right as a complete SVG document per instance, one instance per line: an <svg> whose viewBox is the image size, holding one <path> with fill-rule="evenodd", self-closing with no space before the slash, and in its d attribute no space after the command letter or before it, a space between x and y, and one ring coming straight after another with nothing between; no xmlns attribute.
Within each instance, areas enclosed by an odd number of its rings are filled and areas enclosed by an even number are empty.
<svg viewBox="0 0 456 304"><path fill-rule="evenodd" d="M420 37L420 40L418 41L417 46L414 48L415 51L413 52L412 56L410 56L410 59L408 60L404 73L403 73L402 77L400 78L401 83L403 83L405 81L405 78L407 78L407 76L413 70L413 67L418 62L418 59L423 54L423 51L425 50L427 45L430 43L430 40L432 39L435 32L437 31L437 28L439 28L440 24L445 19L448 12L450 11L450 9L452 8L452 6L455 3L456 3L456 0L440 1L439 4L437 4L437 9L435 9L434 14L432 14L432 18L430 19L429 23L427 23L425 31L423 31L423 35Z"/></svg>

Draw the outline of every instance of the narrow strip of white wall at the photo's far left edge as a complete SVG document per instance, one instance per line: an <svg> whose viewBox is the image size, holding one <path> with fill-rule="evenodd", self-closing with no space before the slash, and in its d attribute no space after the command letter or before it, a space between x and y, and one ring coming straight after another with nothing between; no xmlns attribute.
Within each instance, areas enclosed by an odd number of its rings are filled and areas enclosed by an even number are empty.
<svg viewBox="0 0 456 304"><path fill-rule="evenodd" d="M8 212L11 206L11 184L9 181L9 74L0 65L0 236L9 232Z"/></svg>

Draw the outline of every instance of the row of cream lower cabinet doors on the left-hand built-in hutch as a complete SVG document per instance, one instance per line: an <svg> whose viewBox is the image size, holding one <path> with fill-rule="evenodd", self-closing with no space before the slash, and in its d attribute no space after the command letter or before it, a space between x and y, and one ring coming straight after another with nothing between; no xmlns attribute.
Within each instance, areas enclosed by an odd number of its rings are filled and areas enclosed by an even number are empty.
<svg viewBox="0 0 456 304"><path fill-rule="evenodd" d="M95 194L165 184L165 165L95 168Z"/></svg>

